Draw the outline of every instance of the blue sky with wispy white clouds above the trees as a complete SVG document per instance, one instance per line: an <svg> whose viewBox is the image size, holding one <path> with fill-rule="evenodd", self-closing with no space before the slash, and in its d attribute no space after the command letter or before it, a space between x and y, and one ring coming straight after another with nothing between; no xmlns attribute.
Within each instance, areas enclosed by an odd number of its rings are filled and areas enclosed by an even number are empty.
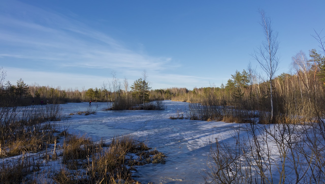
<svg viewBox="0 0 325 184"><path fill-rule="evenodd" d="M278 74L318 48L325 1L0 0L0 67L6 81L78 89L111 72L131 85L143 70L153 89L220 86L264 39L258 8L279 32ZM325 36L325 30L322 32Z"/></svg>

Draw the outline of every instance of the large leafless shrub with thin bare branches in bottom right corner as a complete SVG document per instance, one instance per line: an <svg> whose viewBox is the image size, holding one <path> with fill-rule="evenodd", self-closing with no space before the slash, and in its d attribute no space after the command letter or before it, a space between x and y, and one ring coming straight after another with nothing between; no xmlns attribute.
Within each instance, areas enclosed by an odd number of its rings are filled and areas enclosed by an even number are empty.
<svg viewBox="0 0 325 184"><path fill-rule="evenodd" d="M206 182L323 183L322 125L240 124L233 144L220 137L210 144Z"/></svg>

